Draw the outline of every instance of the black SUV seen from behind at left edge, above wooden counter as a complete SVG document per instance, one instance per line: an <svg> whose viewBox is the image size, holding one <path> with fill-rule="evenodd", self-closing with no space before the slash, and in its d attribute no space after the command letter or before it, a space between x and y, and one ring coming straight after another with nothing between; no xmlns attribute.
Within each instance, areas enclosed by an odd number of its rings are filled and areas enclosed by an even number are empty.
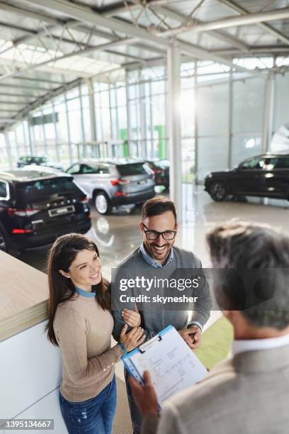
<svg viewBox="0 0 289 434"><path fill-rule="evenodd" d="M38 247L90 228L88 199L73 177L40 170L0 172L0 250Z"/></svg>

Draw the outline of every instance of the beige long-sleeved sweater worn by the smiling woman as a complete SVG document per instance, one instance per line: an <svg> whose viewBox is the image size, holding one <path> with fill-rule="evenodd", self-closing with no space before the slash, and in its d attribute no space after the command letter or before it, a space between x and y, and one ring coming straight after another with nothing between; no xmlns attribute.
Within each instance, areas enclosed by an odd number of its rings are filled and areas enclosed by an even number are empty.
<svg viewBox="0 0 289 434"><path fill-rule="evenodd" d="M81 402L98 395L123 355L119 345L111 348L111 312L103 311L95 297L77 295L57 307L53 328L62 352L62 396Z"/></svg>

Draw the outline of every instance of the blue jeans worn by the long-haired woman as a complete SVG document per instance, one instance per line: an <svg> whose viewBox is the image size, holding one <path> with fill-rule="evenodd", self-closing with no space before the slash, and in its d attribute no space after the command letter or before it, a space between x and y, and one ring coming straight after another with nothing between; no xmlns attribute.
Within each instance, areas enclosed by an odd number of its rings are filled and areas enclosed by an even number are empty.
<svg viewBox="0 0 289 434"><path fill-rule="evenodd" d="M69 402L60 393L60 410L69 434L111 434L116 408L113 381L94 398Z"/></svg>

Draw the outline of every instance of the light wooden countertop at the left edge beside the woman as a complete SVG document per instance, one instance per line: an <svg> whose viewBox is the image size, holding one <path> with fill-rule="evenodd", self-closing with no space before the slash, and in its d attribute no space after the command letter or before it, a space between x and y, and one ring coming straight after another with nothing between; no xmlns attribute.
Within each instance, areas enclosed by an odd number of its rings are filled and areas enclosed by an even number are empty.
<svg viewBox="0 0 289 434"><path fill-rule="evenodd" d="M47 275L0 250L0 342L47 318Z"/></svg>

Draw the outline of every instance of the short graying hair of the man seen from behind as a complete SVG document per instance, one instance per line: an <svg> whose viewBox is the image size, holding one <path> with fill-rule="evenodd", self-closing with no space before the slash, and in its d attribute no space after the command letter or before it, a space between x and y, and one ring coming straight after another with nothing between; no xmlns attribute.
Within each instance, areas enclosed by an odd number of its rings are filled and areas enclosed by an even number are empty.
<svg viewBox="0 0 289 434"><path fill-rule="evenodd" d="M210 230L207 241L217 269L215 290L227 300L226 308L242 311L256 327L286 328L289 238L270 226L232 220Z"/></svg>

